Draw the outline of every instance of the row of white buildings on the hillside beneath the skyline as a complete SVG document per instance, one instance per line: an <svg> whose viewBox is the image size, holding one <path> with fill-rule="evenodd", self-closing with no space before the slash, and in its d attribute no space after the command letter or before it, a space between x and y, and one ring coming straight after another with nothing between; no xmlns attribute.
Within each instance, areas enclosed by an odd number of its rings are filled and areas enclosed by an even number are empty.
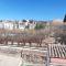
<svg viewBox="0 0 66 66"><path fill-rule="evenodd" d="M0 29L4 30L25 30L25 29L34 29L36 25L35 22L30 23L30 21L23 22L23 21L10 21L4 20L0 22Z"/></svg>

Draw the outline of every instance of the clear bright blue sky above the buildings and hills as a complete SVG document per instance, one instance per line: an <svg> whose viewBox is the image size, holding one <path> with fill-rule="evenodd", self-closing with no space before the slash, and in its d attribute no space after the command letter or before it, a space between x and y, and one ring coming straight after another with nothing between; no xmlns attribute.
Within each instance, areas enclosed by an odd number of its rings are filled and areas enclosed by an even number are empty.
<svg viewBox="0 0 66 66"><path fill-rule="evenodd" d="M0 20L54 20L66 13L66 0L0 0Z"/></svg>

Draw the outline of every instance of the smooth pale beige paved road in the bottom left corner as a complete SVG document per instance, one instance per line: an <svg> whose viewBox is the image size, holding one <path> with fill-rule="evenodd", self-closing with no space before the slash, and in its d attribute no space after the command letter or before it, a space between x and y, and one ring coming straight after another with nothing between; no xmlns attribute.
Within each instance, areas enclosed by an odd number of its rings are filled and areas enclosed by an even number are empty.
<svg viewBox="0 0 66 66"><path fill-rule="evenodd" d="M21 58L0 54L0 66L20 66Z"/></svg>

